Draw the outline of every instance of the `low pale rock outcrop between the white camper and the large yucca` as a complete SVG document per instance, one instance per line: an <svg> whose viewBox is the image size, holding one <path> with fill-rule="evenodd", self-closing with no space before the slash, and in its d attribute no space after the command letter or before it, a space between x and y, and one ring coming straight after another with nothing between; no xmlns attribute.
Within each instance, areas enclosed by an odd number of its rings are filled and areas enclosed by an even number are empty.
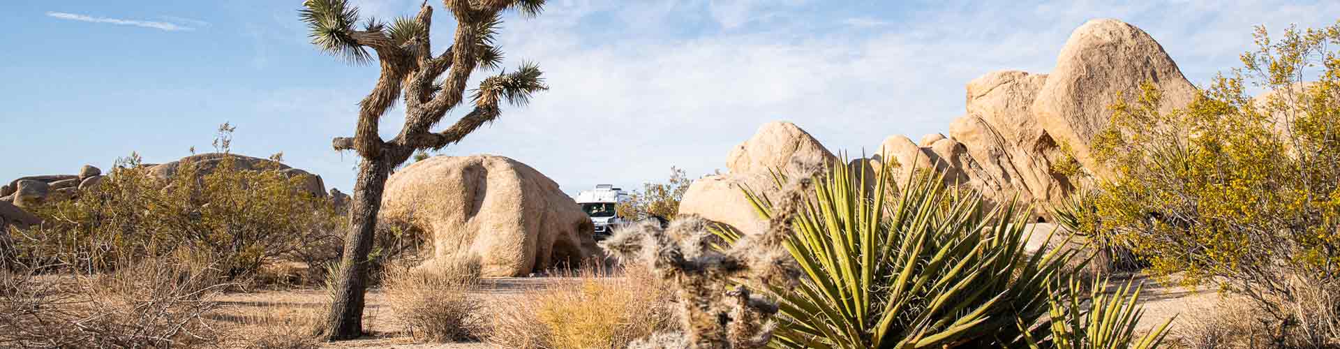
<svg viewBox="0 0 1340 349"><path fill-rule="evenodd" d="M726 158L726 174L693 181L679 201L679 215L704 219L753 232L762 219L742 189L770 196L776 192L769 170L796 172L800 168L831 164L838 158L815 137L791 122L769 122Z"/></svg>

